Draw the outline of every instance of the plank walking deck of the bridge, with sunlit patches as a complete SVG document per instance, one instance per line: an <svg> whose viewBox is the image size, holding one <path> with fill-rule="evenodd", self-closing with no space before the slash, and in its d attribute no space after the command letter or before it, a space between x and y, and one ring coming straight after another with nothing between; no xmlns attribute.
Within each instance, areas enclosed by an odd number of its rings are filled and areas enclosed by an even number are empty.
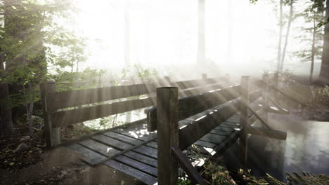
<svg viewBox="0 0 329 185"><path fill-rule="evenodd" d="M179 127L188 125L215 109L219 107L179 121ZM93 135L67 147L80 153L82 160L89 165L103 163L146 184L155 184L157 182L157 134L148 132L146 126L146 121L141 121ZM214 155L214 153L225 151L238 139L239 135L239 116L236 114L194 144L201 151Z"/></svg>

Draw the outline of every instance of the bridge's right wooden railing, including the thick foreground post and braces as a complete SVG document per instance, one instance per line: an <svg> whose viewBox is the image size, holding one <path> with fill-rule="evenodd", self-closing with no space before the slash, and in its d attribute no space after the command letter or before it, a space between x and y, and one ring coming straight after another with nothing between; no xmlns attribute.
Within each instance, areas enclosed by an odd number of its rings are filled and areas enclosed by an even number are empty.
<svg viewBox="0 0 329 185"><path fill-rule="evenodd" d="M194 184L206 184L181 151L238 112L240 112L241 128L239 144L244 159L247 157L248 133L285 139L286 134L284 132L273 130L267 125L267 116L266 121L262 120L260 113L249 106L250 103L262 97L263 105L261 110L264 115L267 115L269 110L267 102L269 85L276 85L277 77L278 75L274 74L271 83L268 74L263 76L262 81L253 81L253 85L257 89L252 92L250 92L249 76L243 76L240 85L181 99L178 96L178 88L157 88L157 107L150 111L148 124L153 124L150 128L157 128L158 184L177 183L178 163L191 177ZM178 121L220 104L224 104L224 106L179 129ZM253 116L262 120L261 123L267 125L269 130L251 127L250 125L255 120L248 116L250 111Z"/></svg>

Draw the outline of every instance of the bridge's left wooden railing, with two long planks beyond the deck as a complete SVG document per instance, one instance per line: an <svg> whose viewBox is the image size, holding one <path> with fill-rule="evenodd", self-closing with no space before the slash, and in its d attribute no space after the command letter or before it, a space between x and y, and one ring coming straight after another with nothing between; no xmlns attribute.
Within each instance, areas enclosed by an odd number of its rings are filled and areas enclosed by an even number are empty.
<svg viewBox="0 0 329 185"><path fill-rule="evenodd" d="M190 81L172 82L169 77L165 77L153 83L65 92L57 92L53 81L43 83L40 90L46 144L49 147L60 144L60 128L68 125L155 106L157 101L154 94L157 87L177 86L179 97L186 97L222 88L226 83L226 78L207 78L205 74L202 79Z"/></svg>

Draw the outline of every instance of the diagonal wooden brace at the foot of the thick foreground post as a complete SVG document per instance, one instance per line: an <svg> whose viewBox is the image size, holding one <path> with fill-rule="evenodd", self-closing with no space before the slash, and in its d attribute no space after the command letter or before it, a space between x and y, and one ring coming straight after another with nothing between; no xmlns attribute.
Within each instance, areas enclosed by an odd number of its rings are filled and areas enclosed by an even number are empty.
<svg viewBox="0 0 329 185"><path fill-rule="evenodd" d="M178 146L172 147L172 154L174 158L178 161L179 165L183 170L186 172L188 177L190 177L192 184L200 184L200 185L207 185L204 179L200 176L195 167L191 164L191 162L186 158L183 152L179 149Z"/></svg>

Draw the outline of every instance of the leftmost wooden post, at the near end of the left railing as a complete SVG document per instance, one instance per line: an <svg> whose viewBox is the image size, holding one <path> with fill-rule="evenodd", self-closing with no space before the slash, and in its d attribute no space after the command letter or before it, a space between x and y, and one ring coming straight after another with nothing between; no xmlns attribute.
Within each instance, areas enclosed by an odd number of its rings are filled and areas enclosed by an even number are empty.
<svg viewBox="0 0 329 185"><path fill-rule="evenodd" d="M49 109L50 93L56 93L56 83L49 81L40 84L42 109L44 111L44 133L46 136L46 146L56 146L60 144L60 128L52 128L51 109Z"/></svg>

